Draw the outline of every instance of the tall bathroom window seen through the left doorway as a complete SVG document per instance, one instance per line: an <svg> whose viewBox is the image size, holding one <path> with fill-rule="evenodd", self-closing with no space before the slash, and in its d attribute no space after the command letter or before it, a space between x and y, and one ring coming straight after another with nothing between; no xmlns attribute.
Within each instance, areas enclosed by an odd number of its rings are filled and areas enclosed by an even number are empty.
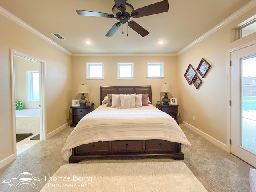
<svg viewBox="0 0 256 192"><path fill-rule="evenodd" d="M39 72L27 71L28 101L39 100Z"/></svg>

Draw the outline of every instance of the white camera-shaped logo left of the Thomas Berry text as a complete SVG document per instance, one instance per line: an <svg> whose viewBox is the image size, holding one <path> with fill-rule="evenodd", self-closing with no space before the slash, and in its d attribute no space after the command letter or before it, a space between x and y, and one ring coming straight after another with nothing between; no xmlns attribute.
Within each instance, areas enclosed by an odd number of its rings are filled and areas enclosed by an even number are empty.
<svg viewBox="0 0 256 192"><path fill-rule="evenodd" d="M17 178L3 180L2 187L6 187L10 192L33 192L37 191L37 186L41 185L40 179L33 177L28 172L19 174Z"/></svg>

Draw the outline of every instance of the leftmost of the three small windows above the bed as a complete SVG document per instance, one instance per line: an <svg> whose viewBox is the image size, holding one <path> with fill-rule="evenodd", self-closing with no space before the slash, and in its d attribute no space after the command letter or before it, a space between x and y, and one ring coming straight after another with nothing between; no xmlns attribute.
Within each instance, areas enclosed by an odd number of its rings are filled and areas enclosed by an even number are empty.
<svg viewBox="0 0 256 192"><path fill-rule="evenodd" d="M86 62L86 78L101 79L103 78L103 62Z"/></svg>

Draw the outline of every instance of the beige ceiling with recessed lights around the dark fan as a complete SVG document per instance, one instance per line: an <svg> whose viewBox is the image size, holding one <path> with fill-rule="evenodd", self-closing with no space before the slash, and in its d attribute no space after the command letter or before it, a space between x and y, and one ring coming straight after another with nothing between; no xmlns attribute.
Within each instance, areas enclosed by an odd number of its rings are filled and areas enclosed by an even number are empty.
<svg viewBox="0 0 256 192"><path fill-rule="evenodd" d="M137 9L159 1L127 2ZM80 16L76 13L78 9L112 14L114 0L1 0L0 6L73 55L176 54L248 2L169 0L168 12L130 19L150 32L145 37L127 27L127 23L122 24L114 36L105 37L118 22L116 18ZM59 40L51 33L60 33L66 40ZM165 43L157 44L160 40Z"/></svg>

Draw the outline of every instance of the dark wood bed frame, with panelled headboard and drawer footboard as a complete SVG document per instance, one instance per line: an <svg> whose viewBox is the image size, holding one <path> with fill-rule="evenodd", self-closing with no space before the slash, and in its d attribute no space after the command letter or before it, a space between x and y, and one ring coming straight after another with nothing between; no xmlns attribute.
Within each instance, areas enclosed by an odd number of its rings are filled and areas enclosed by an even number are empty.
<svg viewBox="0 0 256 192"><path fill-rule="evenodd" d="M100 86L100 104L107 94L148 93L152 102L151 86ZM118 140L94 142L72 149L70 163L102 158L172 158L184 160L181 144L166 140Z"/></svg>

